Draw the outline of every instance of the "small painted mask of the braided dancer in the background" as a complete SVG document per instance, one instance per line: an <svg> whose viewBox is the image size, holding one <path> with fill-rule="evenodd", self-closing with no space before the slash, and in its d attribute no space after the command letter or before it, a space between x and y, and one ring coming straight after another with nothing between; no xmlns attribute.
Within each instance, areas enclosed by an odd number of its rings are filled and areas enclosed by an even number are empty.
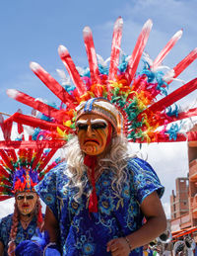
<svg viewBox="0 0 197 256"><path fill-rule="evenodd" d="M27 215L33 213L37 201L37 195L33 192L22 192L16 195L16 202L20 213Z"/></svg>

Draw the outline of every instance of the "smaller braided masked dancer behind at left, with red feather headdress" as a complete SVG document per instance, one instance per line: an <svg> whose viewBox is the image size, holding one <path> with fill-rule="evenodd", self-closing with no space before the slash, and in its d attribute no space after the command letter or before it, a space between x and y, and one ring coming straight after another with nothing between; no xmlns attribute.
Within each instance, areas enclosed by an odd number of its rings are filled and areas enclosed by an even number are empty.
<svg viewBox="0 0 197 256"><path fill-rule="evenodd" d="M3 142L6 149L2 149ZM16 246L31 239L36 228L41 230L41 205L34 185L56 165L55 161L51 164L48 161L57 149L33 148L36 143L33 140L28 141L26 148L22 147L24 141L20 141L18 149L10 149L6 141L3 142L0 149L0 200L15 197L14 213L0 220L0 255L6 256L15 255ZM10 142L12 146L19 145L19 141Z"/></svg>

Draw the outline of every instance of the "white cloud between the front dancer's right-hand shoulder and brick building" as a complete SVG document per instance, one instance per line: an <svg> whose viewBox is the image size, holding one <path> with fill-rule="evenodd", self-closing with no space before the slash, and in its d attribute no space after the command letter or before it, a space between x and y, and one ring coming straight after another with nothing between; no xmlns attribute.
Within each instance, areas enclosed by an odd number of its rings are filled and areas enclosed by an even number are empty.
<svg viewBox="0 0 197 256"><path fill-rule="evenodd" d="M139 150L139 144L131 143L132 152ZM139 157L147 160L164 185L162 203L166 216L170 217L170 195L175 190L175 179L187 177L188 157L187 142L143 144Z"/></svg>

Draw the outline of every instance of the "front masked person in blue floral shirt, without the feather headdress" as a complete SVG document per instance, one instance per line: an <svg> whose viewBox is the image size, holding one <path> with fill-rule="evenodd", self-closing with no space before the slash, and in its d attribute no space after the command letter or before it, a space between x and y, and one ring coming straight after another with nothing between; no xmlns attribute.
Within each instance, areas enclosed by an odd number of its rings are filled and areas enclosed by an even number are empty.
<svg viewBox="0 0 197 256"><path fill-rule="evenodd" d="M128 156L118 115L104 100L80 105L66 163L36 186L63 255L140 255L138 247L164 231L164 187L147 162Z"/></svg>

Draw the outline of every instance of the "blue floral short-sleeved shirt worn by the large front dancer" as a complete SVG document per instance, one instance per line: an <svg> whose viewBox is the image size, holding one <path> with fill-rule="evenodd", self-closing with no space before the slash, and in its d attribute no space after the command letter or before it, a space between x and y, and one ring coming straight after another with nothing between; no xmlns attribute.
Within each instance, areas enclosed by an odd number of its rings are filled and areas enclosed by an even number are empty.
<svg viewBox="0 0 197 256"><path fill-rule="evenodd" d="M65 169L65 163L58 165L35 187L60 223L63 255L110 255L106 252L107 241L138 229L143 219L139 205L155 190L160 196L164 193L151 166L139 158L130 159L127 175L131 187L123 187L121 199L115 197L111 190L112 177L107 170L102 172L96 186L99 213L90 216L86 196L77 204L73 200L75 190L64 187L69 180ZM89 183L85 190L90 187ZM136 249L130 255L140 255L141 251Z"/></svg>

